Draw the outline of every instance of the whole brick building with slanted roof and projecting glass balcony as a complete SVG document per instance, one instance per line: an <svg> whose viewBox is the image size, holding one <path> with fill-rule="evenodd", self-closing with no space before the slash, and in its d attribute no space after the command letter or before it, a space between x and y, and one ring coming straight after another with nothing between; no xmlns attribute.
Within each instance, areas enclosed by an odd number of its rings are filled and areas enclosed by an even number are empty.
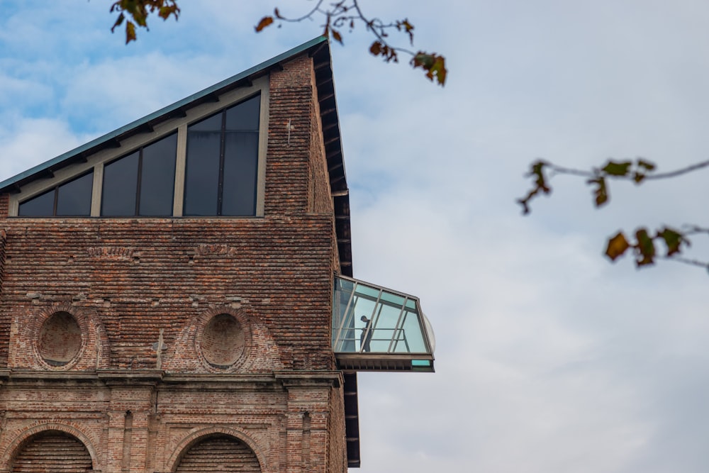
<svg viewBox="0 0 709 473"><path fill-rule="evenodd" d="M352 279L318 38L0 183L0 473L345 472L357 371L432 371Z"/></svg>

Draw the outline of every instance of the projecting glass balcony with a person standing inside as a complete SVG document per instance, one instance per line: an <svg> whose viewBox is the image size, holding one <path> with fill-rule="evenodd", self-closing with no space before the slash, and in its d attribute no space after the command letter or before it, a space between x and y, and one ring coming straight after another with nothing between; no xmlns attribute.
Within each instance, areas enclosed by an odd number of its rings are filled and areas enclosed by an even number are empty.
<svg viewBox="0 0 709 473"><path fill-rule="evenodd" d="M340 369L432 372L434 349L417 297L335 277L333 350Z"/></svg>

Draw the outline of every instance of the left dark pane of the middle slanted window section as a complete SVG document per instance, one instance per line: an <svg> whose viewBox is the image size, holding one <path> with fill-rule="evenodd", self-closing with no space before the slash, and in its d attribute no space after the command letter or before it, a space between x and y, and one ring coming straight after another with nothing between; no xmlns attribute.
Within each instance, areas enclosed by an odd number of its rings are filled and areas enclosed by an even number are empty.
<svg viewBox="0 0 709 473"><path fill-rule="evenodd" d="M136 151L104 167L104 189L101 215L124 217L135 215L135 190L138 184Z"/></svg>

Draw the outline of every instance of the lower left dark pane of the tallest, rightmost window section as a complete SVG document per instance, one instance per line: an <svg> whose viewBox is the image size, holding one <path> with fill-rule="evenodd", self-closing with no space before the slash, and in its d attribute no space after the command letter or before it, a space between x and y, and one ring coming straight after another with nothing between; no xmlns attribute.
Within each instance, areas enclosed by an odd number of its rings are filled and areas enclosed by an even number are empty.
<svg viewBox="0 0 709 473"><path fill-rule="evenodd" d="M187 132L184 215L217 214L220 133Z"/></svg>

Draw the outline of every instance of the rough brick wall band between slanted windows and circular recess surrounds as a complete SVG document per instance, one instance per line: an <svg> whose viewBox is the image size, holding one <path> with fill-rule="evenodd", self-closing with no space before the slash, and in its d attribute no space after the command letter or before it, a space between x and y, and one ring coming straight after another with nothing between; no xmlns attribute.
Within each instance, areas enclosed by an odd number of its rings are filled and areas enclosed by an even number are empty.
<svg viewBox="0 0 709 473"><path fill-rule="evenodd" d="M328 216L43 219L31 226L11 219L5 225L11 255L0 308L5 324L70 304L96 313L108 336L109 367L155 368L151 345L160 328L170 347L204 311L236 305L269 331L286 367L333 368L326 356ZM13 367L38 367L20 359Z"/></svg>

